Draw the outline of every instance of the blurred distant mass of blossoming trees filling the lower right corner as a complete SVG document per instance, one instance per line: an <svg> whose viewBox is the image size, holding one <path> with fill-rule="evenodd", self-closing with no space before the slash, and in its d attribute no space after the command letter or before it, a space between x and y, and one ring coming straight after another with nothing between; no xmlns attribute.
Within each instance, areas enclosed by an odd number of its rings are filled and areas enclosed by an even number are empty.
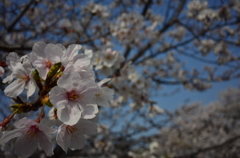
<svg viewBox="0 0 240 158"><path fill-rule="evenodd" d="M218 101L207 106L193 103L176 109L171 113L171 125L152 137L149 148L140 154L137 150L130 151L129 156L223 158L239 155L240 124L239 119L234 119L239 115L239 95L239 88L229 88L220 93ZM218 148L219 144L222 148Z"/></svg>

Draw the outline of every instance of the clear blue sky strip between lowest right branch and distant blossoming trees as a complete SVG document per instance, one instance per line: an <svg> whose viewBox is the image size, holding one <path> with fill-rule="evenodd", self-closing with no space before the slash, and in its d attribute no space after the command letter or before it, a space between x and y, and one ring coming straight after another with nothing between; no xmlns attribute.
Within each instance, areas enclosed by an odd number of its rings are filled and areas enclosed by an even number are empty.
<svg viewBox="0 0 240 158"><path fill-rule="evenodd" d="M184 89L181 85L179 86L164 86L164 89L159 92L159 94L163 93L171 93L176 89L180 89L179 92L169 95L169 96L161 96L154 97L157 100L158 105L170 111L173 111L176 108L181 107L184 103L194 103L201 102L203 105L207 105L212 101L218 100L218 94L230 87L239 87L240 82L239 79L233 79L231 81L223 81L219 83L213 83L212 88L205 90L203 92L199 91L189 91Z"/></svg>

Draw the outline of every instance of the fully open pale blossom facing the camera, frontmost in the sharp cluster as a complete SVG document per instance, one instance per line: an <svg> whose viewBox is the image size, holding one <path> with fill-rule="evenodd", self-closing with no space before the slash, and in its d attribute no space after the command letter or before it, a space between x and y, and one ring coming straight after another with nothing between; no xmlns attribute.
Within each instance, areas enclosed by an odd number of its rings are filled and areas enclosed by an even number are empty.
<svg viewBox="0 0 240 158"><path fill-rule="evenodd" d="M50 91L50 101L57 108L59 120L68 125L83 118L93 118L98 112L95 94L98 85L89 79L82 79L77 72L65 73Z"/></svg>

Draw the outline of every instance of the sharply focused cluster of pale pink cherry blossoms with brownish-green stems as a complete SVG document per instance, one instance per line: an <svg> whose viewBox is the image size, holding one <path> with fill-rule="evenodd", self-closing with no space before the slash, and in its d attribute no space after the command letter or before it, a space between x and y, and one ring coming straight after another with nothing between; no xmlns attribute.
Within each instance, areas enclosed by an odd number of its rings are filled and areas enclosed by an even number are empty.
<svg viewBox="0 0 240 158"><path fill-rule="evenodd" d="M98 105L108 107L114 94L104 86L109 78L95 82L91 57L92 51L83 50L81 45L66 49L61 44L44 42L34 44L32 52L23 57L9 53L6 63L11 73L3 80L9 84L4 93L18 102L11 105L14 112L0 127L6 130L15 114L41 111L35 120L23 117L16 121L14 130L3 132L0 143L17 138L14 152L21 157L31 156L38 145L52 156L53 136L66 153L68 148L83 148L85 135L97 133L97 124L89 119L96 117ZM20 99L21 94L28 99L37 95L38 99L26 103ZM44 118L45 106L52 107L48 121Z"/></svg>

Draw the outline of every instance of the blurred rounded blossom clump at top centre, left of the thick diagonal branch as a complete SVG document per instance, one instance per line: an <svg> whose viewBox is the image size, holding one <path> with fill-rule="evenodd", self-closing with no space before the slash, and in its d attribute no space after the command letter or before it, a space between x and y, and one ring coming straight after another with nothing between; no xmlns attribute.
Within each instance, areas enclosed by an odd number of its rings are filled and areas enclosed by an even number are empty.
<svg viewBox="0 0 240 158"><path fill-rule="evenodd" d="M163 17L151 12L148 16L150 24L144 21L144 17L139 13L121 14L110 24L111 35L124 44L140 44L146 37L151 37L155 41L159 38L155 28L163 21Z"/></svg>

